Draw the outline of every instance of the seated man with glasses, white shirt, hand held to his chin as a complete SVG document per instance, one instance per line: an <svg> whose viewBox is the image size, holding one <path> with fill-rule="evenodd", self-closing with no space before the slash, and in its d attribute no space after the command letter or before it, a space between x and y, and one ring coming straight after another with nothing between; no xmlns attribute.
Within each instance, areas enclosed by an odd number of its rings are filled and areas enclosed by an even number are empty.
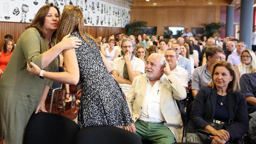
<svg viewBox="0 0 256 144"><path fill-rule="evenodd" d="M127 95L134 77L145 73L145 63L135 56L134 43L131 39L124 39L121 49L122 56L113 61L112 74Z"/></svg>

